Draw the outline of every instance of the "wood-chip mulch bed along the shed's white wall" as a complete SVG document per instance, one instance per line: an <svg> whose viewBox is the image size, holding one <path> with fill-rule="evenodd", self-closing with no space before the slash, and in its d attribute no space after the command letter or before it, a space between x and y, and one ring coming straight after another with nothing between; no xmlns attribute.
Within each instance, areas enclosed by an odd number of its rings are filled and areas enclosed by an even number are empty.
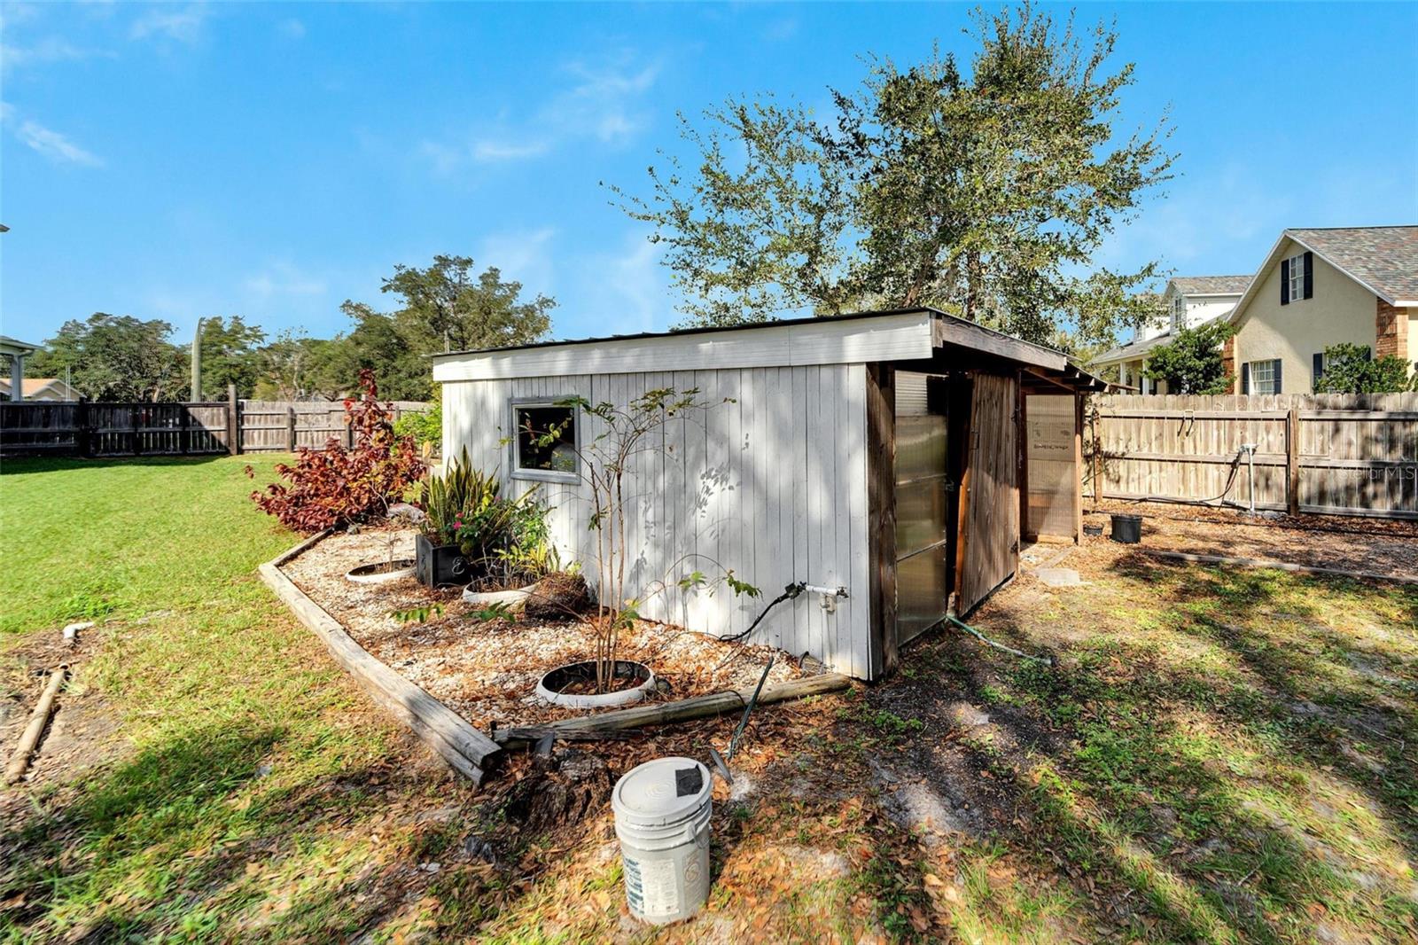
<svg viewBox="0 0 1418 945"><path fill-rule="evenodd" d="M478 620L461 589L430 592L408 578L383 585L354 585L345 573L359 565L413 558L414 532L393 526L336 534L282 570L376 658L430 695L488 731L499 725L536 725L584 715L584 709L546 705L535 695L537 680L566 663L594 657L594 634L583 623ZM441 613L425 623L400 623L391 613L437 603ZM668 691L649 700L682 700L756 685L771 647L725 643L705 633L652 621L621 631L618 658L647 664ZM804 675L780 654L770 682Z"/></svg>

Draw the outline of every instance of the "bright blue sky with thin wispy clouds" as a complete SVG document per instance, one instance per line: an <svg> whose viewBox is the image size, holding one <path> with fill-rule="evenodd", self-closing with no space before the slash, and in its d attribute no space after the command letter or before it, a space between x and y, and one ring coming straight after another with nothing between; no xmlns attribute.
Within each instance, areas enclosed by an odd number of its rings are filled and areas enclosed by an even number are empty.
<svg viewBox="0 0 1418 945"><path fill-rule="evenodd" d="M966 4L0 4L0 331L95 311L343 331L435 253L574 338L678 321L644 189L676 109L822 106L864 54L967 51ZM1170 108L1180 177L1109 265L1255 268L1286 226L1418 223L1418 4L1081 4Z"/></svg>

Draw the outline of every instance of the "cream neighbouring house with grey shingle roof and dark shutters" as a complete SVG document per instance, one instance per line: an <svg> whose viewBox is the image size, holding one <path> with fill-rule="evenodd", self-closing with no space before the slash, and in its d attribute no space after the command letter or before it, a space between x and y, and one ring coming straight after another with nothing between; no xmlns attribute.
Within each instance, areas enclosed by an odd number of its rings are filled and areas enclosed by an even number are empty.
<svg viewBox="0 0 1418 945"><path fill-rule="evenodd" d="M1236 393L1310 393L1324 349L1418 360L1418 226L1280 234L1231 314L1227 370Z"/></svg>

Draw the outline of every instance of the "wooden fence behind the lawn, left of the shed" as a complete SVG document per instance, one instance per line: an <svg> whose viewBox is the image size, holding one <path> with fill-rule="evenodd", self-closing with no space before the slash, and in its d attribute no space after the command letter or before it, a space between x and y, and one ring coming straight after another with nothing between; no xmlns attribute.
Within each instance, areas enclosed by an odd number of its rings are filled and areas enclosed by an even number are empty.
<svg viewBox="0 0 1418 945"><path fill-rule="evenodd" d="M430 404L394 403L396 419ZM210 455L349 446L342 402L0 403L0 455Z"/></svg>

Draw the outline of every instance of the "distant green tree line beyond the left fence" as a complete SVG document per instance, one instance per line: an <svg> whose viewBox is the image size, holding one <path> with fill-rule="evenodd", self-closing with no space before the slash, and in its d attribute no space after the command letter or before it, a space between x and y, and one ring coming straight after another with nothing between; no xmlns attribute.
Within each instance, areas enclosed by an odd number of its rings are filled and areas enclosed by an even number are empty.
<svg viewBox="0 0 1418 945"><path fill-rule="evenodd" d="M201 390L191 392L191 342L162 319L95 312L68 321L26 360L31 377L69 377L89 400L220 400L227 385L262 400L337 399L370 368L391 400L428 400L428 355L542 339L556 302L522 298L522 284L496 267L472 272L472 260L435 255L432 265L396 265L381 291L400 301L380 312L346 301L349 331L309 338L285 329L268 336L240 315L201 322Z"/></svg>

